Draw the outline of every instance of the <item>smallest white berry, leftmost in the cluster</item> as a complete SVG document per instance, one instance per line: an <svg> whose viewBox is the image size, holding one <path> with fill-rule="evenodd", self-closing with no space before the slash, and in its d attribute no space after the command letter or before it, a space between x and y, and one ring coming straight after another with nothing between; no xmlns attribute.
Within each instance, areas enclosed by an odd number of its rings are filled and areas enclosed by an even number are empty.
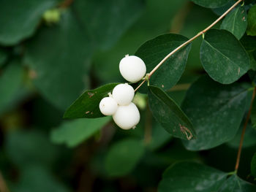
<svg viewBox="0 0 256 192"><path fill-rule="evenodd" d="M113 115L117 110L118 104L112 97L105 97L99 102L99 110L103 115Z"/></svg>

